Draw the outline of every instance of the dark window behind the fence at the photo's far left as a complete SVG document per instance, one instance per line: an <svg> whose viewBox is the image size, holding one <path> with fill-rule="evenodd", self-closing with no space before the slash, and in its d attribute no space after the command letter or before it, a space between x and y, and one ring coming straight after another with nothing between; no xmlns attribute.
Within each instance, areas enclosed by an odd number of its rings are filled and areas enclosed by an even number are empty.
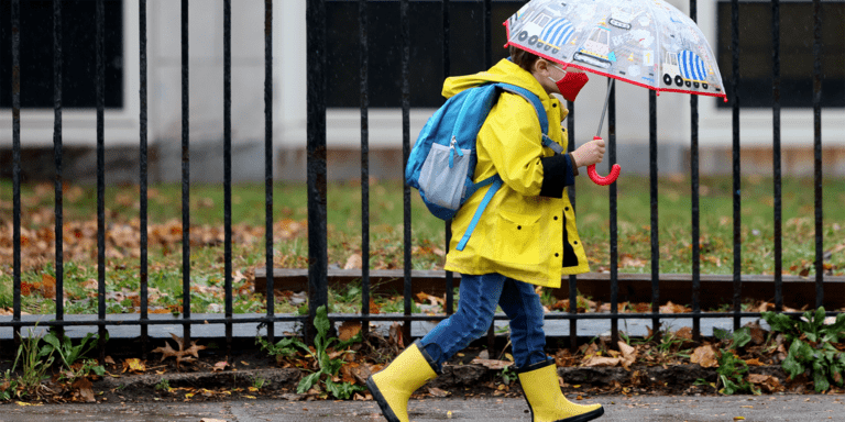
<svg viewBox="0 0 845 422"><path fill-rule="evenodd" d="M21 1L21 107L53 108L53 1ZM95 108L96 2L62 2L62 104ZM11 0L0 0L0 108L12 107ZM105 1L106 107L123 107L123 2Z"/></svg>

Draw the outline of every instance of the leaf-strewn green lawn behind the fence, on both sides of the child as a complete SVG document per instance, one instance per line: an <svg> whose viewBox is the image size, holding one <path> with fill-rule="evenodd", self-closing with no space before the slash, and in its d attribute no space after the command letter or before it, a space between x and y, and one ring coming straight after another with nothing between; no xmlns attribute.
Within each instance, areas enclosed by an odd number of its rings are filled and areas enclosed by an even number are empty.
<svg viewBox="0 0 845 422"><path fill-rule="evenodd" d="M826 179L824 184L824 249L836 251L845 244L845 186L843 179ZM748 177L742 184L742 271L771 274L773 271L773 197L770 178ZM650 196L647 178L624 176L618 190L619 271L650 273ZM658 238L660 273L692 271L690 181L663 178L658 187ZM707 177L701 180L701 249L702 274L733 273L733 198L729 177ZM783 269L788 274L812 275L815 258L813 184L812 179L783 180ZM0 308L12 306L12 187L0 181ZM445 224L434 218L411 190L411 268L442 268ZM610 268L610 189L579 178L577 184L577 215L579 233L585 244L593 271ZM149 247L149 287L157 289L151 300L153 309L178 312L183 295L182 187L179 184L150 188L150 226L163 235L151 240ZM109 312L131 312L132 292L139 291L138 240L123 230L138 227L138 187L106 189L106 224L110 236L106 262L106 290ZM22 281L37 284L44 275L54 275L54 190L52 184L22 186L22 227L28 246L23 253ZM97 299L91 281L98 278L96 244L96 188L67 186L64 189L65 268L64 286L69 296L68 313L96 312ZM265 198L263 184L232 187L232 223L234 231L233 270L244 273L264 267L265 262ZM404 266L404 202L402 185L397 181L374 181L370 190L369 263L373 269ZM273 193L274 266L308 267L307 188L305 184L276 182ZM91 232L77 236L75 227L88 223ZM190 277L191 311L217 312L222 303L223 284L223 188L195 184L190 189ZM329 184L327 188L328 255L331 266L343 267L352 254L361 253L361 188L355 182ZM175 230L175 231L174 231ZM174 232L172 232L174 231ZM132 232L132 230L129 230ZM136 236L136 229L134 230ZM83 233L83 232L79 232ZM68 244L68 236L78 243ZM90 238L88 238L90 236ZM122 241L121 241L122 238ZM87 242L87 243L85 243ZM845 274L845 251L832 254L828 271ZM251 293L244 279L235 282L235 312L263 311L263 298ZM88 287L85 287L87 284ZM240 289L244 287L243 289ZM360 308L354 286L330 293L337 311ZM152 291L152 290L151 290ZM122 295L122 296L121 296ZM151 293L152 295L152 293ZM22 298L25 312L51 313L54 300L44 300L35 292ZM400 298L382 296L376 303L383 311L402 309ZM279 299L278 312L296 312L299 307Z"/></svg>

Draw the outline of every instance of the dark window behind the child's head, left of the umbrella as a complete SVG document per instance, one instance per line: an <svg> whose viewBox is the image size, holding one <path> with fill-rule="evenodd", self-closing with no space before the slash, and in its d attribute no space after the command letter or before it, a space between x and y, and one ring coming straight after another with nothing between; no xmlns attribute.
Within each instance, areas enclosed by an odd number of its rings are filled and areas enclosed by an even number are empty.
<svg viewBox="0 0 845 422"><path fill-rule="evenodd" d="M525 1L492 1L491 46L495 64L507 57L502 22L516 13ZM411 1L410 21L410 104L440 107L443 98L442 35L440 2ZM358 1L329 0L327 13L328 107L360 107L360 40ZM450 73L467 75L485 70L481 2L449 2ZM370 106L402 107L402 22L398 1L367 3Z"/></svg>

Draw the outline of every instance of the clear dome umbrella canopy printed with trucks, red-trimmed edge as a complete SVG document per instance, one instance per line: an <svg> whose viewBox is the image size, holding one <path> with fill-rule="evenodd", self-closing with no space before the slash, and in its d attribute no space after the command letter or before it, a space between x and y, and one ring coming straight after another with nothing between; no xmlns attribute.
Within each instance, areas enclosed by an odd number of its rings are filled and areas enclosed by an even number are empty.
<svg viewBox="0 0 845 422"><path fill-rule="evenodd" d="M507 45L649 89L725 98L716 57L662 0L533 0L506 22Z"/></svg>

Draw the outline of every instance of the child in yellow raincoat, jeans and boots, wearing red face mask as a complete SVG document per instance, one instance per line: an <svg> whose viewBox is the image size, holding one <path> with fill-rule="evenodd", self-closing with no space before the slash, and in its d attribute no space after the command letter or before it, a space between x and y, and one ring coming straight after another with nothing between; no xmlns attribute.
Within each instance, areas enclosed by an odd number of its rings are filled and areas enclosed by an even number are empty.
<svg viewBox="0 0 845 422"><path fill-rule="evenodd" d="M542 102L549 122L569 113L552 93L574 101L586 74L511 46L511 57L487 71L452 77L443 97L487 82L526 88ZM601 163L604 141L590 141L571 154L556 154L541 143L537 112L524 98L502 92L478 136L474 180L498 174L504 185L482 214L463 251L452 237L446 269L461 274L458 312L406 348L366 386L391 422L408 422L410 395L441 373L441 365L486 333L496 306L511 319L511 343L519 382L534 421L585 422L601 417L601 404L566 399L555 359L546 355L542 306L537 286L560 287L562 275L589 270L575 218L563 188L574 185L578 167ZM549 137L566 151L568 136L549 124ZM476 191L452 220L464 233L486 189Z"/></svg>

